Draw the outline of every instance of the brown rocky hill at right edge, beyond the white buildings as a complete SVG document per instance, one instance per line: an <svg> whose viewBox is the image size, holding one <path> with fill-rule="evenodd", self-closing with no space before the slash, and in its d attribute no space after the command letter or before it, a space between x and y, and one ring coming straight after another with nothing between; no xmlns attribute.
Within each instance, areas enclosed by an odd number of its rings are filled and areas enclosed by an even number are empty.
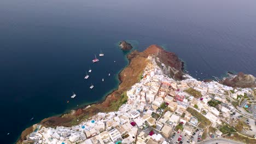
<svg viewBox="0 0 256 144"><path fill-rule="evenodd" d="M237 75L229 76L221 83L230 87L251 88L256 87L256 78L253 75L246 75L240 72Z"/></svg>

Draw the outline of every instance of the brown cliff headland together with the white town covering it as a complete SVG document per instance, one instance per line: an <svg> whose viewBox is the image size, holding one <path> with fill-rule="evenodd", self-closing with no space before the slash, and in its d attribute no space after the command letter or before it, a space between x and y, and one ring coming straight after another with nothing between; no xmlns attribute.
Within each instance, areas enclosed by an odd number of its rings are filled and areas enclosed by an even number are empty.
<svg viewBox="0 0 256 144"><path fill-rule="evenodd" d="M132 49L125 41L122 49ZM130 47L131 46L131 47ZM46 118L17 143L255 143L255 88L198 81L157 45L127 56L120 86L100 104ZM226 80L228 81L228 80Z"/></svg>

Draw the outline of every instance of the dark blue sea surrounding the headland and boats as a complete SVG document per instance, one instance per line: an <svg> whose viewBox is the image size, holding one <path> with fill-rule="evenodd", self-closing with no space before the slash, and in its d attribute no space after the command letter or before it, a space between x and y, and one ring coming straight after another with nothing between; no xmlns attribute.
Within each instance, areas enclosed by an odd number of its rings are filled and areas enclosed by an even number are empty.
<svg viewBox="0 0 256 144"><path fill-rule="evenodd" d="M138 50L159 44L176 52L197 78L255 75L256 1L1 1L1 143L116 88L127 64L116 46L123 39ZM100 49L105 56L92 64Z"/></svg>

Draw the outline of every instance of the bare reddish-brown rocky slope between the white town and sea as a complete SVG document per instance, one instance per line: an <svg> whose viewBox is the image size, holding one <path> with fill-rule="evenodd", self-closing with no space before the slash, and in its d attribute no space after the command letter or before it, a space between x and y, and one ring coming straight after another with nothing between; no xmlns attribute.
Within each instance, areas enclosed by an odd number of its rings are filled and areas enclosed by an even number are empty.
<svg viewBox="0 0 256 144"><path fill-rule="evenodd" d="M39 124L43 127L72 127L85 119L90 118L98 112L110 112L116 111L125 102L126 99L121 97L131 86L135 85L140 79L144 68L147 65L147 58L149 55L158 57L158 65L162 65L164 73L175 80L185 79L183 73L183 62L173 52L167 52L158 45L150 45L143 52L132 51L127 55L129 59L129 65L119 73L120 85L118 89L108 94L104 101L101 101L90 106L85 106L77 110L73 110L71 113L65 113L61 116L53 116L43 119ZM35 128L31 126L25 129L17 143L22 143L26 140L26 136Z"/></svg>

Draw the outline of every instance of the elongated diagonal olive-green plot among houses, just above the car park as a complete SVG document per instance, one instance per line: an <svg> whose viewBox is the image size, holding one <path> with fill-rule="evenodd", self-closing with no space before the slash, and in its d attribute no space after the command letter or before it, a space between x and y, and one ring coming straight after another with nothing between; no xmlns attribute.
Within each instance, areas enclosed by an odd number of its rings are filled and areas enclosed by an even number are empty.
<svg viewBox="0 0 256 144"><path fill-rule="evenodd" d="M192 109L191 107L188 107L187 111L190 112L191 115L196 117L197 120L200 122L199 128L205 128L211 124L211 121L209 119L207 119L205 116L203 116L201 113L197 112L196 110Z"/></svg>

